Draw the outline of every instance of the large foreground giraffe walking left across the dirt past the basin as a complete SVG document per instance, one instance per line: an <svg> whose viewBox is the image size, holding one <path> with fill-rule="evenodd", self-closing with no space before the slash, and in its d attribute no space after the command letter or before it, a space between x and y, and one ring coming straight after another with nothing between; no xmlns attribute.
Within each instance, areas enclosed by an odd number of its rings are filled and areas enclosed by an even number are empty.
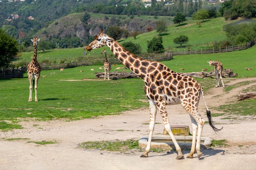
<svg viewBox="0 0 256 170"><path fill-rule="evenodd" d="M101 30L99 35L96 35L94 40L88 46L86 46L86 49L90 51L102 46L108 46L125 66L127 66L145 82L144 91L150 106L150 122L148 144L141 157L148 157L148 153L150 152L150 144L155 126L155 117L158 109L164 121L164 127L171 136L173 144L178 152L176 159L183 158L180 146L171 131L166 110L166 105L181 103L182 107L185 108L189 113L193 127L192 146L187 158L193 158L195 150L197 151L198 158L200 158L202 155L202 152L200 151L200 141L202 128L205 122L203 117L198 112L200 94L202 94L206 106L202 86L200 86L195 79L186 75L175 73L167 68L164 64L144 60L133 55L109 35L104 34L103 30ZM206 109L210 126L215 131L221 130L222 128L217 129L213 125L211 120L211 112L207 106ZM196 141L197 134L198 137Z"/></svg>

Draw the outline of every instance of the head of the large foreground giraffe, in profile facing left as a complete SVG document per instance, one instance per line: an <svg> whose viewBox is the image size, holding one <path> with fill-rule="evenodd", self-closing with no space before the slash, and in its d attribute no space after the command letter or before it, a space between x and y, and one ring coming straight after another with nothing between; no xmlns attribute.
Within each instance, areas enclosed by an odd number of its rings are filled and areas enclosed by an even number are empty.
<svg viewBox="0 0 256 170"><path fill-rule="evenodd" d="M98 49L102 46L108 45L108 42L111 42L112 40L114 39L107 34L104 34L103 29L101 29L99 35L95 35L94 40L88 46L86 46L85 49L88 51L91 51L92 49Z"/></svg>

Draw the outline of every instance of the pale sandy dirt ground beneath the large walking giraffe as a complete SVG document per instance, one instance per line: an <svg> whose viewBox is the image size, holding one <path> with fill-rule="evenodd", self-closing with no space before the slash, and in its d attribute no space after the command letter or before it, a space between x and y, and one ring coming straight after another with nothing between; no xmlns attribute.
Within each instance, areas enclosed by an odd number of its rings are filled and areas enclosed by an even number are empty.
<svg viewBox="0 0 256 170"><path fill-rule="evenodd" d="M225 79L227 85L252 81L255 78ZM248 86L255 85L252 83ZM237 94L246 86L223 93L223 88L212 88L206 94L207 106L219 106L236 101ZM201 99L199 109L205 112ZM212 113L217 113L211 110ZM168 106L172 125L188 125L189 115L180 105ZM204 118L207 119L204 114ZM132 110L121 115L104 116L98 119L78 121L54 120L50 122L22 121L24 129L0 132L0 170L255 170L256 161L256 116L237 119L213 117L216 126L223 126L218 134L206 124L203 136L227 139L229 146L218 146L202 150L200 159L176 160L176 152L150 152L148 158L140 158L141 152L108 152L78 148L84 141L138 140L148 136L149 111ZM157 115L154 134L162 133L162 119ZM36 126L35 126L36 125ZM6 141L3 138L29 138ZM57 144L37 145L27 141L56 141ZM184 157L189 150L183 150ZM196 157L196 154L194 155Z"/></svg>

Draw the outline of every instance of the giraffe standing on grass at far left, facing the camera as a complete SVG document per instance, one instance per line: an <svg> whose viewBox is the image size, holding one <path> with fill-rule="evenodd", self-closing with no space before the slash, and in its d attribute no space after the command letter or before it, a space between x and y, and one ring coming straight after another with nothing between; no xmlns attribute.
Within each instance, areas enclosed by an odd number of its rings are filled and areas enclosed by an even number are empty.
<svg viewBox="0 0 256 170"><path fill-rule="evenodd" d="M38 79L40 77L40 72L41 72L41 66L36 61L36 56L37 56L37 44L38 44L39 40L40 40L39 38L31 39L31 41L33 42L33 46L34 46L34 57L33 57L32 61L29 63L29 65L27 66L27 75L28 75L29 84L30 84L29 85L29 102L32 101L33 86L35 88L35 102L38 102L36 92L37 92L37 83L38 83Z"/></svg>

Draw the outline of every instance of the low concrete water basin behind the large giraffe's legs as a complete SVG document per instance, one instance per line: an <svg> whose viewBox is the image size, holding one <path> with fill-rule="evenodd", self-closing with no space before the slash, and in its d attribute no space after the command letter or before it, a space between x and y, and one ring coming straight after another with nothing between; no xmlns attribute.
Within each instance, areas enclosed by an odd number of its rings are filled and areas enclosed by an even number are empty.
<svg viewBox="0 0 256 170"><path fill-rule="evenodd" d="M192 136L179 136L175 135L175 139L184 149L190 149L192 143ZM201 148L208 149L211 146L212 139L209 137L201 137ZM146 148L148 144L148 137L142 137L139 139L139 147ZM169 135L157 135L152 137L151 148L161 148L161 149L175 149L173 141Z"/></svg>

